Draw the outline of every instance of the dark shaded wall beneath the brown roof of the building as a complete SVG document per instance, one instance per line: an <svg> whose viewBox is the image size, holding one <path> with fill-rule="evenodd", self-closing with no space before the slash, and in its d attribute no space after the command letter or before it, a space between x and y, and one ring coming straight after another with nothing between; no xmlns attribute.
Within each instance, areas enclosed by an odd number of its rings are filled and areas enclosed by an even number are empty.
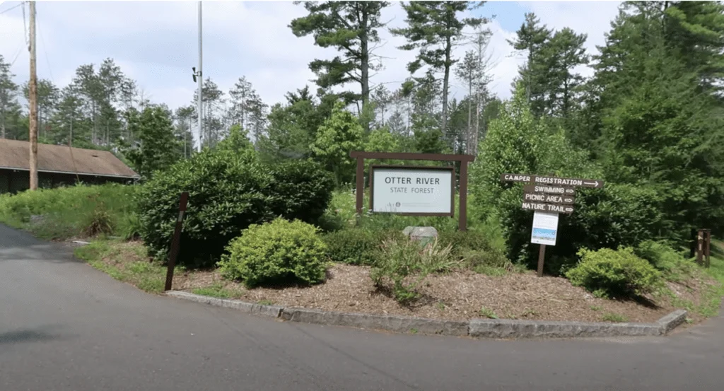
<svg viewBox="0 0 724 391"><path fill-rule="evenodd" d="M101 185L108 182L132 183L132 180L114 177L95 177L93 175L56 174L50 172L38 172L38 187L58 188L60 186L75 185L77 180L86 185ZM30 188L30 175L27 171L12 171L0 169L0 194L18 193Z"/></svg>

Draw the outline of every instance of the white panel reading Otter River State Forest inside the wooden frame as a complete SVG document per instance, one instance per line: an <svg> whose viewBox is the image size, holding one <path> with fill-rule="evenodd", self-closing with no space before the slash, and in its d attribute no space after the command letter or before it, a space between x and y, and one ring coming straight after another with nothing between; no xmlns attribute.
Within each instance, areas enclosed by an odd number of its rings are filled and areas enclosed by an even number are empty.
<svg viewBox="0 0 724 391"><path fill-rule="evenodd" d="M452 216L451 169L372 167L372 211Z"/></svg>

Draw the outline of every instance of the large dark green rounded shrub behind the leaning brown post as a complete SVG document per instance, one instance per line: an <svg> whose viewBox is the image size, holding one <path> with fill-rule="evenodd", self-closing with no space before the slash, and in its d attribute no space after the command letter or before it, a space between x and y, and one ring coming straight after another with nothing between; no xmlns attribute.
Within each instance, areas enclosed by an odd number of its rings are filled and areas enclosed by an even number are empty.
<svg viewBox="0 0 724 391"><path fill-rule="evenodd" d="M295 164L264 165L229 148L180 161L143 185L140 235L154 257L166 258L183 191L189 200L178 261L185 266L213 266L224 246L251 224L277 216L311 222L327 207L329 178L315 164Z"/></svg>

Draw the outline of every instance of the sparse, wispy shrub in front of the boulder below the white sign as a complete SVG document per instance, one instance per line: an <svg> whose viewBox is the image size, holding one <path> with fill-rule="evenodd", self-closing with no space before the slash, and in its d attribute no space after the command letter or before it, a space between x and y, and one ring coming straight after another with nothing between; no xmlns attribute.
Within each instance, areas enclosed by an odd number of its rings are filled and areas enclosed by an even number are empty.
<svg viewBox="0 0 724 391"><path fill-rule="evenodd" d="M428 274L447 272L458 263L452 246L443 247L437 240L424 247L408 238L386 240L381 251L370 278L376 287L390 289L392 297L403 304L418 298L416 288Z"/></svg>

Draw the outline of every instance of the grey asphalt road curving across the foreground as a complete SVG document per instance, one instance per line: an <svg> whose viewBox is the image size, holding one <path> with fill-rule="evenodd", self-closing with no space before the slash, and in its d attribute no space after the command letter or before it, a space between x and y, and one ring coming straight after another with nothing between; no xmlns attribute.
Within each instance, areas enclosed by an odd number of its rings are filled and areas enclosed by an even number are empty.
<svg viewBox="0 0 724 391"><path fill-rule="evenodd" d="M2 391L722 390L724 319L670 337L470 340L148 295L0 225Z"/></svg>

